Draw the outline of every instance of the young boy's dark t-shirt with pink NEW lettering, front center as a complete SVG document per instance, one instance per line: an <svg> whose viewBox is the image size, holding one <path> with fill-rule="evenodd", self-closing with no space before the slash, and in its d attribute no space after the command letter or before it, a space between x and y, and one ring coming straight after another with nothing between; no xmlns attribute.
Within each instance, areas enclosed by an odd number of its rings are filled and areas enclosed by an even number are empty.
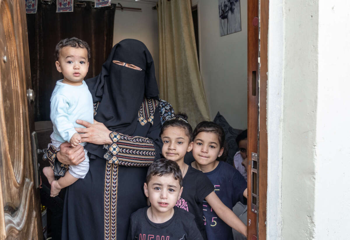
<svg viewBox="0 0 350 240"><path fill-rule="evenodd" d="M174 215L165 223L153 223L148 207L131 214L128 240L203 240L193 214L174 207Z"/></svg>

